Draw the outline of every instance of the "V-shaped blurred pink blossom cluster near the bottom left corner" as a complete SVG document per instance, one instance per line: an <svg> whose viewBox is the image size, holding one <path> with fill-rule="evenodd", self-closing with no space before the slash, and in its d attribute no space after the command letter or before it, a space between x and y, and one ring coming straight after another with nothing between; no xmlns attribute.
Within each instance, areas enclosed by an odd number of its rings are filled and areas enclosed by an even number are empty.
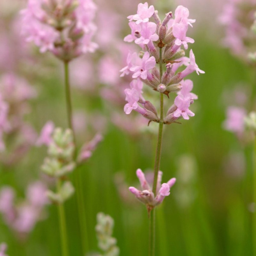
<svg viewBox="0 0 256 256"><path fill-rule="evenodd" d="M42 219L43 208L48 202L46 191L42 182L30 183L26 198L16 202L12 187L5 186L0 190L0 213L5 223L18 235L28 234Z"/></svg>

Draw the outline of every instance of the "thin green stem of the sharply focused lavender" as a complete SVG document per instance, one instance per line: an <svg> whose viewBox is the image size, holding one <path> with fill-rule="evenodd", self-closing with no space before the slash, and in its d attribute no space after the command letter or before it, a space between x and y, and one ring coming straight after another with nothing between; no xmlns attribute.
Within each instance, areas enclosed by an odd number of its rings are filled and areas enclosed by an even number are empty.
<svg viewBox="0 0 256 256"><path fill-rule="evenodd" d="M163 76L163 59L162 59L162 48L159 48L159 73L160 73L160 83L162 83ZM163 93L160 93L160 121L157 136L157 146L156 146L156 157L154 165L154 181L152 192L156 195L157 186L157 176L160 169L160 158L162 149L162 139L163 139L163 112L164 112L164 97ZM150 211L149 215L149 256L155 255L155 233L156 233L156 220L155 220L155 210L154 208Z"/></svg>

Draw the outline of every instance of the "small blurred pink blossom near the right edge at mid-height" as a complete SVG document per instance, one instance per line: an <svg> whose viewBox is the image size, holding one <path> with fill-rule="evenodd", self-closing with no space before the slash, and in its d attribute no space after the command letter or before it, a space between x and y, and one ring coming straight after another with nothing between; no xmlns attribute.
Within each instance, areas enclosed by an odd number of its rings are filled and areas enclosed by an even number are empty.
<svg viewBox="0 0 256 256"><path fill-rule="evenodd" d="M245 129L244 118L246 110L242 107L230 106L227 109L227 119L224 122L224 128L228 131L241 135Z"/></svg>

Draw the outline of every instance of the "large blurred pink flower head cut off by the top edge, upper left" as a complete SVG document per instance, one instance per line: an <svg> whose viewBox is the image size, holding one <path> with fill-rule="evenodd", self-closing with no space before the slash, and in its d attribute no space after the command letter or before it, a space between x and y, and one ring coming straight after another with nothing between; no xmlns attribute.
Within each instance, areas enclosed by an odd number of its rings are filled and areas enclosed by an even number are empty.
<svg viewBox="0 0 256 256"><path fill-rule="evenodd" d="M22 34L40 52L70 61L97 48L92 42L95 11L92 0L28 0L21 11Z"/></svg>

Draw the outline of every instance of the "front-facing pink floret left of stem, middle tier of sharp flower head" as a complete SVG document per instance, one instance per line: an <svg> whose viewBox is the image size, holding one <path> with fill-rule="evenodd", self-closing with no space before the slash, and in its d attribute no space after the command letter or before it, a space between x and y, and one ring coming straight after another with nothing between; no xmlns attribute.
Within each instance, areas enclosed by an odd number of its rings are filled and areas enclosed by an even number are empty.
<svg viewBox="0 0 256 256"><path fill-rule="evenodd" d="M142 79L147 78L147 73L150 69L152 69L156 65L155 57L151 56L149 52L145 52L142 57L140 66L132 66L130 71L133 72L132 77L137 78L140 77Z"/></svg>

